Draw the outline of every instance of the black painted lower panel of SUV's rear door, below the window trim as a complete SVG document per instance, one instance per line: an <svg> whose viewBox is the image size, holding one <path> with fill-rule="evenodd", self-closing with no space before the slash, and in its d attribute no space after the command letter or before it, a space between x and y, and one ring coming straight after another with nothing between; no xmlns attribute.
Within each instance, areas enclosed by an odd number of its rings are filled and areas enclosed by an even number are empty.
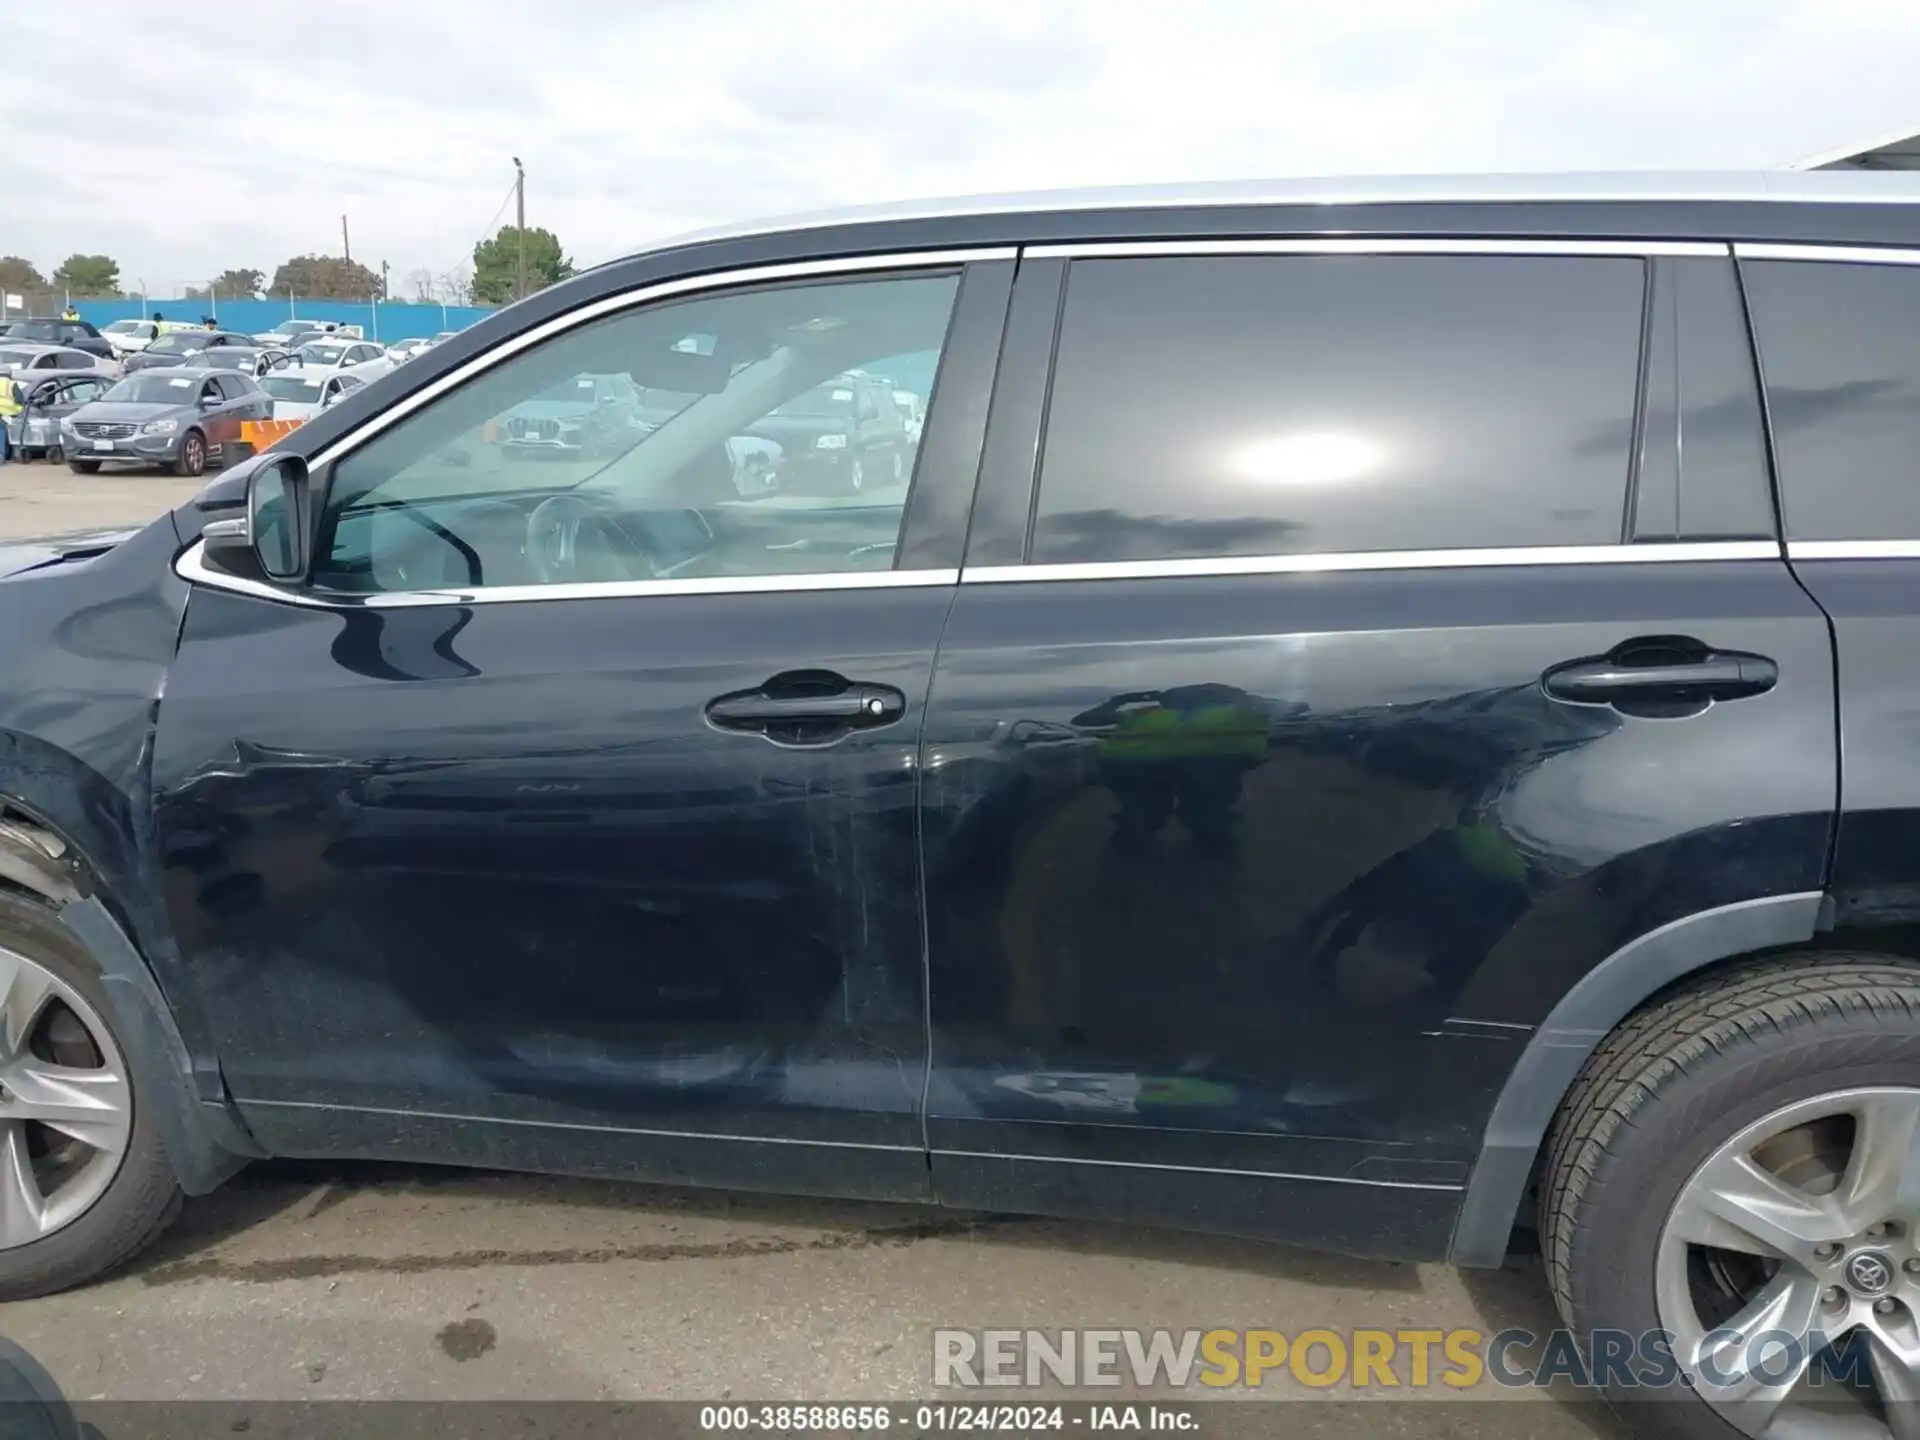
<svg viewBox="0 0 1920 1440"><path fill-rule="evenodd" d="M1674 634L1784 680L1684 720L1540 693ZM1828 657L1764 563L962 586L925 743L941 1198L1020 1187L943 1152L1215 1171L1221 1213L1244 1173L1463 1183L1586 970L1820 887ZM1119 701L1225 720L1137 743ZM1100 1175L1079 1210L1133 1215ZM1384 1244L1350 1187L1309 1188L1313 1240Z"/></svg>

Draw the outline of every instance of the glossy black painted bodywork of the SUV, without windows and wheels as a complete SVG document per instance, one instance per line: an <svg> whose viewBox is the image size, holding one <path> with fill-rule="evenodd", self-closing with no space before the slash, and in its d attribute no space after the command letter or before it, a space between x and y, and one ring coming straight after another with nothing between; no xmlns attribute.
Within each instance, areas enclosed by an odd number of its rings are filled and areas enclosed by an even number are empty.
<svg viewBox="0 0 1920 1440"><path fill-rule="evenodd" d="M484 348L662 278L1315 232L1920 240L1912 207L1862 204L795 230L557 286L282 449L317 455ZM1684 265L1651 267L1674 273L1682 315L1701 294L1738 319L1730 267ZM902 564L956 564L968 524L972 564L1018 564L1029 545L1069 267L1014 269L968 273L948 338L966 380L943 372L935 394ZM1649 357L1659 344L1649 321ZM1640 538L1665 536L1668 513L1682 534L1753 534L1764 474L1740 440L1743 355L1672 351L1670 422L1640 397L1642 478L1668 476L1636 511ZM1693 492L1665 447L1715 420L1732 459ZM188 603L169 561L238 499L215 480L119 549L0 582L0 795L86 854L186 1046L217 1062L271 1152L931 1187L950 1204L1438 1256L1505 1075L1580 975L1667 922L1826 883L1834 657L1784 563ZM1889 674L1907 576L1797 570L1841 616L1847 714L1847 614L1870 645L1859 674ZM1766 655L1782 678L1688 718L1540 693L1546 668L1636 636ZM893 685L906 714L828 749L703 726L708 699L795 668ZM1116 708L1139 697L1225 714L1227 743L1116 755ZM1843 876L1859 876L1841 891L1878 897L1857 920L1920 895L1901 858L1916 824L1901 806L1920 804L1897 755L1885 774L1855 758L1910 708L1878 705L1884 722L1864 701L1849 730L1849 795L1874 778L1884 814L1841 828ZM1849 851L1868 824L1899 849Z"/></svg>

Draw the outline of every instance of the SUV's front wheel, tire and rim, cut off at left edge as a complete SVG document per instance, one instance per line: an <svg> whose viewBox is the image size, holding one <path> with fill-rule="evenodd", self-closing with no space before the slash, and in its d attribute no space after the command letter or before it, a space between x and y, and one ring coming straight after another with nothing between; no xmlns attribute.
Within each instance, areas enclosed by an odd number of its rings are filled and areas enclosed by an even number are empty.
<svg viewBox="0 0 1920 1440"><path fill-rule="evenodd" d="M106 1016L100 972L65 925L0 895L0 1300L83 1284L179 1212Z"/></svg>

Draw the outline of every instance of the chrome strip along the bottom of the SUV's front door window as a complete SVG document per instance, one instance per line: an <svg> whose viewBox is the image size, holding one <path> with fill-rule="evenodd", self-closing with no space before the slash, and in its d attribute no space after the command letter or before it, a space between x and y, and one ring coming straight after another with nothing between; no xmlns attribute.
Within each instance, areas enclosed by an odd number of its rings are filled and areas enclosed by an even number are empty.
<svg viewBox="0 0 1920 1440"><path fill-rule="evenodd" d="M472 589L382 589L349 595L338 589L282 589L263 580L227 574L207 564L205 545L194 541L173 563L196 586L236 595L301 605L313 611L399 611L420 605L516 605L522 601L641 599L647 595L801 595L822 589L924 589L954 586L958 570L820 570L818 574L712 576L703 580L601 580L576 586L476 586Z"/></svg>

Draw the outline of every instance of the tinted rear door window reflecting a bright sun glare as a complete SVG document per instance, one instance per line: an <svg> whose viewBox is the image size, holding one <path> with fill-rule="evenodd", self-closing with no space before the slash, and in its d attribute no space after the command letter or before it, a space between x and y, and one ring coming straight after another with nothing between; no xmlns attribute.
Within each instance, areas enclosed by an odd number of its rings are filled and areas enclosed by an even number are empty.
<svg viewBox="0 0 1920 1440"><path fill-rule="evenodd" d="M1613 545L1645 263L1075 261L1033 561Z"/></svg>

